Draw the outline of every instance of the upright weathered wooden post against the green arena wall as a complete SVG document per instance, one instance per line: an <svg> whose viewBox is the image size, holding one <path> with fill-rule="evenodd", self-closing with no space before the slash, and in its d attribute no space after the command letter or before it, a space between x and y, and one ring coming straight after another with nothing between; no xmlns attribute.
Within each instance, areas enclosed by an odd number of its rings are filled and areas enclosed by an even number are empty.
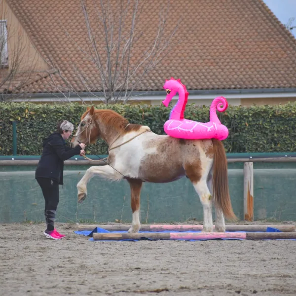
<svg viewBox="0 0 296 296"><path fill-rule="evenodd" d="M244 163L244 219L254 221L254 169L253 162Z"/></svg>

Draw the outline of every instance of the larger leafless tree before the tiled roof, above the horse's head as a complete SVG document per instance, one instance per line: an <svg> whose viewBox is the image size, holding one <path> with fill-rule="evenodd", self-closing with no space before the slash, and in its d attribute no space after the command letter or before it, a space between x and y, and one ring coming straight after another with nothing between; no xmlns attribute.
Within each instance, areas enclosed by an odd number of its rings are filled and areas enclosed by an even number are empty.
<svg viewBox="0 0 296 296"><path fill-rule="evenodd" d="M87 29L83 44L65 30L96 73L89 75L83 65L72 61L76 78L93 96L94 90L101 91L101 98L107 104L118 101L126 103L145 75L159 65L173 44L178 43L178 40L174 43L171 41L176 35L179 20L176 20L173 28L166 26L169 2L159 12L159 23L155 26L157 29L153 32L152 41L141 43L144 32L139 29L139 19L146 4L144 0L81 0ZM142 48L140 54L139 44ZM49 64L57 70L69 90L77 93L77 89L52 60Z"/></svg>

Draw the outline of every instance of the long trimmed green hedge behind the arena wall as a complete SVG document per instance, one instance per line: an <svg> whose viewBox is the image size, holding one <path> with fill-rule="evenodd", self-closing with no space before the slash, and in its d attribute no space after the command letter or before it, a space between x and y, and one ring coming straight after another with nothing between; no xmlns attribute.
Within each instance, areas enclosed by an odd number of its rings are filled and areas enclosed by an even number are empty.
<svg viewBox="0 0 296 296"><path fill-rule="evenodd" d="M172 109L148 105L100 105L112 109L131 123L148 125L154 133L164 134L163 124ZM67 119L76 127L86 106L78 104L0 103L0 155L12 155L12 121L17 121L17 154L40 155L42 138L55 130L59 120ZM277 106L229 106L218 116L229 129L223 141L231 152L296 151L296 103ZM209 107L186 106L185 118L207 122ZM87 154L106 154L107 145L98 141L87 147Z"/></svg>

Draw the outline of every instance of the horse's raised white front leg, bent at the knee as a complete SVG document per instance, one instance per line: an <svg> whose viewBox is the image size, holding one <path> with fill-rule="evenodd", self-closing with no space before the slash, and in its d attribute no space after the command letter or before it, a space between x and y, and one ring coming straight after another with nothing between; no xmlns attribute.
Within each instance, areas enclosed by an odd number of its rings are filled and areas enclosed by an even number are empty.
<svg viewBox="0 0 296 296"><path fill-rule="evenodd" d="M99 175L105 179L109 180L120 180L122 175L115 171L111 166L92 166L85 172L84 176L77 184L78 190L78 203L81 203L87 195L86 185L89 180L95 175Z"/></svg>

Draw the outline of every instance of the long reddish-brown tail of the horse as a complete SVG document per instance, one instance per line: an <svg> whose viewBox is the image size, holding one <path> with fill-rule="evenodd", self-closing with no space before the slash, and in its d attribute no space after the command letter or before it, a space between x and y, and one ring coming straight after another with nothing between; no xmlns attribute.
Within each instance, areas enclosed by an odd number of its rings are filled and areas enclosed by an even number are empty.
<svg viewBox="0 0 296 296"><path fill-rule="evenodd" d="M222 210L225 218L236 221L228 188L227 158L221 141L212 139L214 147L213 193L214 202Z"/></svg>

